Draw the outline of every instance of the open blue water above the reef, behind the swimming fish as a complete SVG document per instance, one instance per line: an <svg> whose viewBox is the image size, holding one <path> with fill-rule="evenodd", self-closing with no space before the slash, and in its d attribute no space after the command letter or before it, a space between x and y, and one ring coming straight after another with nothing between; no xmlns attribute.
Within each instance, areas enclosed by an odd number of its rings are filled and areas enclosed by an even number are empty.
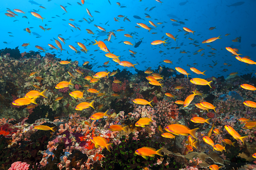
<svg viewBox="0 0 256 170"><path fill-rule="evenodd" d="M137 64L135 67L138 70L146 70L148 67L152 67L152 69L157 69L158 66L166 66L169 68L181 67L185 69L188 73L191 73L192 77L202 77L200 75L196 75L192 71L190 71L190 66L195 67L200 71L206 71L207 77L211 76L220 76L224 75L226 78L227 75L231 72L238 72L238 75L243 75L246 73L255 72L254 65L250 65L246 67L246 63L238 61L232 54L228 52L225 47L238 48L238 54L243 54L243 56L250 56L252 60L256 61L255 56L255 48L252 47L251 44L256 44L255 42L255 12L256 2L254 0L246 1L242 5L239 6L227 6L237 3L239 1L169 1L163 0L163 3L159 3L154 0L120 0L121 6L126 6L125 8L120 8L116 2L110 0L87 0L84 5L80 6L77 2L81 3L81 1L67 1L67 0L37 0L33 1L35 3L40 4L46 9L40 8L39 5L32 4L28 1L13 1L13 0L1 0L1 9L0 9L0 17L1 17L1 42L0 49L3 48L15 48L19 46L20 52L28 52L30 50L37 51L38 49L35 47L36 45L41 46L42 48L48 50L46 52L55 53L58 58L62 60L71 59L72 61L78 60L79 64L83 64L84 61L89 61L92 64L92 70L95 72L109 70L113 71L117 68L124 69L123 66L116 66L116 62L112 61L110 58L105 57L106 54L102 50L94 51L99 49L97 45L92 45L91 41L95 42L108 38L107 33L99 30L95 25L99 25L103 27L106 32L114 31L116 35L116 39L112 36L111 42L103 41L106 46L109 48L111 53L121 56L120 60L127 60L132 62L133 64ZM69 5L70 3L71 5ZM61 7L65 6L68 13L66 13ZM153 10L149 11L151 7L156 6ZM147 8L148 7L148 8ZM7 17L4 15L6 12L6 8L9 8L13 11L13 9L20 9L25 14L15 12L18 16L16 18ZM91 12L90 17L86 8L88 8ZM145 10L147 8L147 10ZM43 20L38 19L30 14L28 11L38 10L37 12L43 18ZM99 11L97 13L95 11ZM13 11L14 12L14 11ZM151 18L145 18L145 13L149 14ZM60 16L57 17L56 15ZM131 20L131 22L125 20L124 18L119 18L118 15L127 16ZM135 19L133 16L139 16L142 19ZM22 16L27 16L28 19L22 18ZM55 17L55 18L52 18ZM120 22L115 22L114 17L119 18ZM93 22L86 22L83 20L86 18L88 21L89 18ZM185 24L180 24L177 22L170 21L170 19L175 19L178 21L185 22ZM64 20L66 21L64 21ZM69 19L75 19L75 21L69 21ZM155 20L157 19L157 20ZM187 20L185 20L187 19ZM14 20L18 20L15 21ZM83 22L79 22L79 20ZM153 27L148 22L149 20L153 21L155 25L158 27ZM51 22L50 22L51 21ZM29 23L28 23L29 22ZM107 24L105 24L108 22ZM136 22L147 24L152 28L150 33L143 28L135 28L138 26ZM163 24L156 24L157 22L163 22ZM81 31L78 29L70 27L68 23L78 24ZM47 26L45 25L47 24ZM174 26L173 24L178 24L178 26ZM44 28L51 28L49 31L43 31L39 28L39 25ZM164 27L163 27L164 26ZM215 27L214 30L209 30L210 27ZM28 32L23 29L30 28L31 32L37 33L40 35L39 38L36 38L37 35L29 35ZM125 31L116 32L115 30L125 29ZM163 27L163 28L162 28ZM186 32L178 32L178 29L183 30L183 27L187 27L192 31L196 31L195 35L189 33L188 35L184 35ZM95 37L92 37L92 34L88 34L86 29L92 30ZM73 30L73 31L72 31ZM12 33L7 33L12 32ZM151 34L156 32L157 34ZM173 34L177 36L176 42L167 37L165 33ZM132 38L125 37L124 34L135 33ZM64 45L61 41L62 48L67 51L60 50L50 50L48 44L52 44L55 47L57 45L54 42L54 38L58 39L58 34L61 34L61 37L66 40L66 45ZM230 34L225 36L225 34ZM13 35L13 37L9 36ZM221 35L221 36L220 36ZM96 36L99 36L96 38ZM163 37L164 36L164 37ZM202 44L201 42L207 40L212 37L222 37L212 43ZM163 39L161 39L163 37ZM188 38L193 38L194 41L189 40ZM241 43L232 42L236 37L241 37ZM135 42L140 41L142 39L142 43L139 47L134 48L131 45L126 45L123 41L130 41L135 44ZM166 42L166 47L161 45L151 45L152 41L155 40L165 40L168 38ZM89 39L85 41L83 39ZM7 44L3 43L7 42ZM83 52L76 54L73 50L71 50L68 45L74 46L77 50L81 49L77 42L81 42L84 45L87 45L87 49L89 49L87 54ZM121 43L119 43L121 42ZM30 43L26 48L22 47L23 43ZM88 45L91 43L91 45ZM199 45L195 47L193 44ZM206 45L211 45L211 47L207 47ZM171 47L180 47L180 49L166 49ZM197 55L193 55L198 49L204 48L201 52L198 52ZM211 50L211 48L215 48L215 50ZM129 52L130 50L136 51L137 54L135 57L132 57ZM159 53L159 51L164 51L163 53ZM182 54L180 51L185 50L188 52L187 54ZM53 52L54 51L54 52ZM210 56L209 53L212 51L216 53L216 55ZM204 56L201 57L201 54L205 53ZM92 54L92 56L89 56ZM42 56L45 56L45 53L41 53ZM93 58L93 59L91 59ZM173 64L168 64L163 62L163 60L169 59L173 61ZM108 64L108 68L97 68L102 66L104 62L110 61ZM144 62L146 61L146 62ZM214 66L214 62L217 62L217 65ZM143 63L142 63L143 62ZM197 63L197 64L193 64ZM232 66L228 67L223 63L232 64ZM190 66L187 66L190 65ZM214 68L210 68L209 66L214 66ZM227 72L223 72L223 69L228 69ZM134 68L127 68L132 73L136 73Z"/></svg>

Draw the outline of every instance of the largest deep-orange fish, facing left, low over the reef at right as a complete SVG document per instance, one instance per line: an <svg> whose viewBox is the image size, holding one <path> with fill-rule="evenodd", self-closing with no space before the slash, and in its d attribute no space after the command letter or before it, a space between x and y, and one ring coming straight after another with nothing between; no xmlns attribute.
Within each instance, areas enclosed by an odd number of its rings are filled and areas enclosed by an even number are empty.
<svg viewBox="0 0 256 170"><path fill-rule="evenodd" d="M172 133L174 135L183 135L183 136L188 136L190 134L194 138L196 138L196 131L199 128L195 129L190 129L185 125L180 125L180 124L171 124L168 125L164 128L167 132ZM197 138L196 138L197 139Z"/></svg>

